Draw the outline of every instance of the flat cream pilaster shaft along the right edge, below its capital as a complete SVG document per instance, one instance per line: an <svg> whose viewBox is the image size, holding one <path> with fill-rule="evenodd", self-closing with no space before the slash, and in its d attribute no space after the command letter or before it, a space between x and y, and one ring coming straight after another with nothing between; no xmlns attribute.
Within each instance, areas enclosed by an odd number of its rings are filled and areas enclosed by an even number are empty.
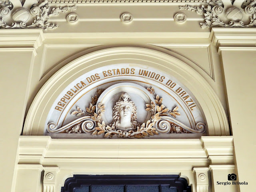
<svg viewBox="0 0 256 192"><path fill-rule="evenodd" d="M230 124L234 137L234 149L240 191L255 189L256 134L254 118L256 117L255 80L256 48L230 48L221 50L226 80ZM242 112L243 111L243 112Z"/></svg>

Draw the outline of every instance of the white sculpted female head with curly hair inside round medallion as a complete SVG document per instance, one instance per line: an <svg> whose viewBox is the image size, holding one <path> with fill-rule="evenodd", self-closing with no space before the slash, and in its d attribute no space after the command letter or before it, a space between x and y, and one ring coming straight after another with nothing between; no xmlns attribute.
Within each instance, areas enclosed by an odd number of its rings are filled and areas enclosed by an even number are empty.
<svg viewBox="0 0 256 192"><path fill-rule="evenodd" d="M128 93L123 92L113 108L112 125L117 130L130 131L137 127L137 108Z"/></svg>

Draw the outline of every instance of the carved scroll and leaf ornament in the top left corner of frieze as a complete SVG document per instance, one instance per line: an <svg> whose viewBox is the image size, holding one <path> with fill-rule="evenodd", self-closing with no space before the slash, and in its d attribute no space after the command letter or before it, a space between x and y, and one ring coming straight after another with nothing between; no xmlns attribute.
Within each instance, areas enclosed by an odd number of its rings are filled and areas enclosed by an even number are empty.
<svg viewBox="0 0 256 192"><path fill-rule="evenodd" d="M48 22L50 16L56 16L60 12L75 10L76 6L64 8L52 8L49 10L48 0L38 3L38 0L9 0L11 4L0 1L0 27L1 28L42 28L44 30L54 29L58 25ZM8 23L12 21L12 23Z"/></svg>

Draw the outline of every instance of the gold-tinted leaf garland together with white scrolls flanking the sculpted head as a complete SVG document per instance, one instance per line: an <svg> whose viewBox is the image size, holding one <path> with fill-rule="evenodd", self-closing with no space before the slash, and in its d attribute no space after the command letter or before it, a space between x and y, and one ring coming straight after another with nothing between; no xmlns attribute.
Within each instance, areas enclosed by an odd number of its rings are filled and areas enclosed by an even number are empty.
<svg viewBox="0 0 256 192"><path fill-rule="evenodd" d="M162 104L163 98L155 94L154 88L147 88L147 90L154 96L155 102L150 104L146 104L146 111L151 111L150 120L146 123L138 123L136 122L135 130L119 130L118 127L113 123L110 125L106 125L106 123L102 119L102 115L105 112L105 106L99 102L98 103L98 111L96 112L96 103L100 94L102 94L103 90L98 89L94 97L92 97L92 101L88 108L86 108L86 112L82 111L80 107L76 107L71 114L80 117L78 120L73 121L74 123L70 123L70 125L64 126L62 128L57 128L54 122L48 124L48 132L62 132L66 130L66 133L91 133L94 136L104 134L104 138L144 138L147 136L154 136L160 133L202 133L205 131L205 125L203 123L196 124L196 130L187 127L186 125L180 123L175 120L176 116L180 116L180 112L178 112L178 106L175 106L172 110L169 110ZM124 96L127 93L123 93ZM128 94L127 94L128 95ZM122 98L128 99L130 98ZM156 103L156 104L155 104Z"/></svg>

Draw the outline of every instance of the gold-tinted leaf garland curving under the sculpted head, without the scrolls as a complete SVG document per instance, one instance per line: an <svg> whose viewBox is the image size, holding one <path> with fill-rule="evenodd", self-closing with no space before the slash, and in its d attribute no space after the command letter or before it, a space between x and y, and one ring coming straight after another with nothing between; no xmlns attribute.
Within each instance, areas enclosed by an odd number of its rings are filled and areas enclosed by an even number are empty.
<svg viewBox="0 0 256 192"><path fill-rule="evenodd" d="M166 120L166 116L172 116L176 118L180 116L180 112L178 112L178 106L175 106L172 110L169 110L162 104L163 98L159 95L155 94L154 88L147 88L147 90L152 94L155 98L155 102L151 102L150 104L146 104L146 111L152 111L152 115L150 120L146 123L138 123L136 130L130 131L122 131L116 130L115 126L106 125L106 123L102 120L102 115L105 112L105 106L100 102L98 103L98 111L96 111L96 103L100 94L104 91L103 89L97 89L96 94L92 97L92 101L90 105L86 108L86 112L82 111L80 107L76 107L71 114L76 116L85 116L85 118L90 117L90 121L95 122L96 126L92 130L92 135L99 136L104 134L104 138L144 138L147 136L158 135L158 131L156 130L156 123L159 121ZM77 124L73 126L71 129L66 130L67 133L81 133L81 124ZM184 128L177 126L174 123L170 123L170 133L188 133ZM91 129L90 129L91 130ZM83 130L84 132L85 130Z"/></svg>

